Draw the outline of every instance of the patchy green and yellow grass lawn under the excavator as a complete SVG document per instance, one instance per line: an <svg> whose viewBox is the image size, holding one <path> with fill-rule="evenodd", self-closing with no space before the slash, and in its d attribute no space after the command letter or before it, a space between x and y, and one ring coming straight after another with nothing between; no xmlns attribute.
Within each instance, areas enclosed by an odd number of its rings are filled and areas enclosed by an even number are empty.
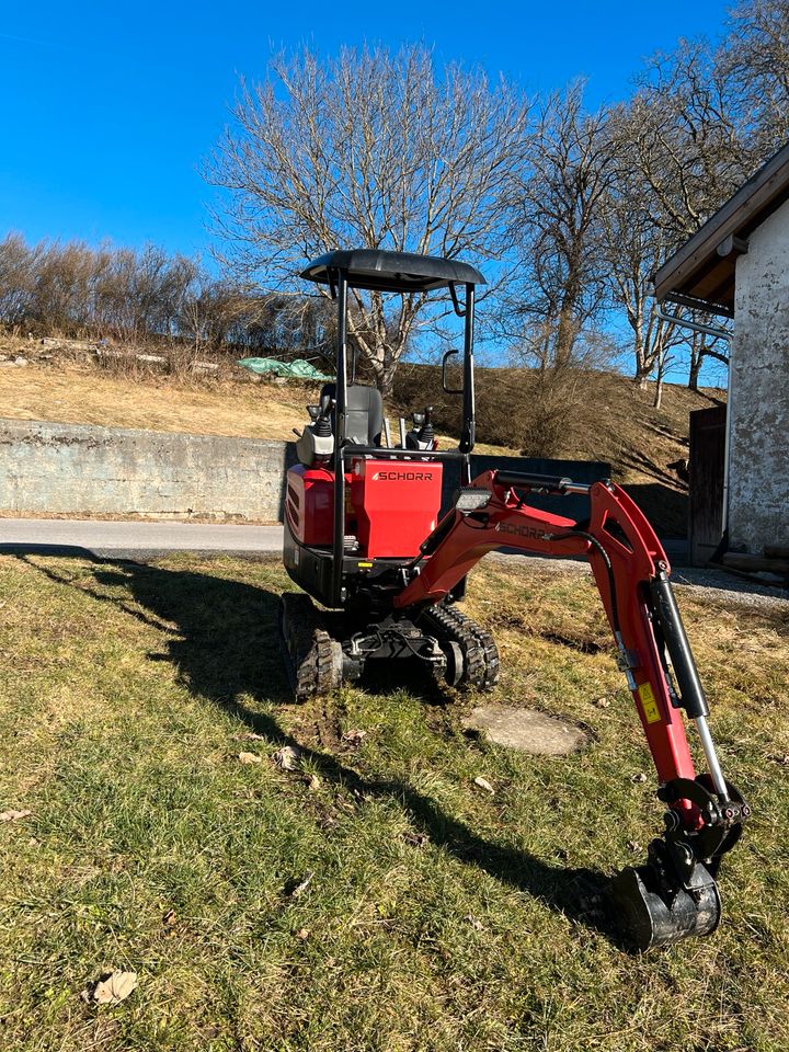
<svg viewBox="0 0 789 1052"><path fill-rule="evenodd" d="M474 698L415 677L287 704L274 563L3 557L0 580L0 810L32 812L0 823L3 1050L789 1048L786 615L682 593L754 820L721 929L633 958L599 896L661 808L585 576L489 563L468 603L499 697L592 732L563 758L468 736ZM112 968L137 990L84 1004Z"/></svg>

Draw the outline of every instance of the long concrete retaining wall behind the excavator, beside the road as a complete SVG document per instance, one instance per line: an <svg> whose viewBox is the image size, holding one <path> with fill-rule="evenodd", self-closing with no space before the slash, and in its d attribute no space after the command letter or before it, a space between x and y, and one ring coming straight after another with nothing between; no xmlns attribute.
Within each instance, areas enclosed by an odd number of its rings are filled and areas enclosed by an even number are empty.
<svg viewBox="0 0 789 1052"><path fill-rule="evenodd" d="M284 480L296 462L291 442L0 420L0 510L151 517L213 516L282 521ZM606 464L472 457L473 473L491 468L606 478ZM444 506L460 483L444 466ZM584 498L535 498L539 507L583 518Z"/></svg>

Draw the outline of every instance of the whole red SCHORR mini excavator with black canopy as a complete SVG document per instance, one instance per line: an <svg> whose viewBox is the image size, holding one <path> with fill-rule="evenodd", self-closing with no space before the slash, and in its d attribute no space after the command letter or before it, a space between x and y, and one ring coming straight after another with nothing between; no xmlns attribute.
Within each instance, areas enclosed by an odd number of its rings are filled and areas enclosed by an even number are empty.
<svg viewBox="0 0 789 1052"><path fill-rule="evenodd" d="M724 780L707 724L709 708L668 581L665 552L636 504L608 481L485 471L471 478L474 445L473 318L479 271L456 260L377 250L335 251L302 277L329 286L338 305L336 381L309 405L311 422L287 473L284 561L308 595L281 606L285 661L295 695L323 694L357 679L368 661L419 659L438 679L487 690L499 677L492 637L460 611L471 568L496 548L588 560L618 651L617 662L658 771L665 830L645 865L613 882L625 934L645 950L720 921L716 877L750 810ZM464 320L459 446L438 451L432 410L414 415L392 444L379 392L348 382L348 290L422 297L446 289ZM381 436L385 436L382 443ZM460 488L439 519L444 466L460 467ZM585 494L575 522L529 506L530 494ZM327 610L319 611L312 596ZM329 611L340 613L329 613ZM708 773L696 775L681 710L701 740Z"/></svg>

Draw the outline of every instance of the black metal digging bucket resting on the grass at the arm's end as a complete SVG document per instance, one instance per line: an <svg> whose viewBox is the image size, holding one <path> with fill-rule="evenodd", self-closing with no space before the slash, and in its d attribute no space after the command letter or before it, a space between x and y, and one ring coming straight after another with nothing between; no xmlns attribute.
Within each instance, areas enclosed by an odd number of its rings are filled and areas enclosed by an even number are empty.
<svg viewBox="0 0 789 1052"><path fill-rule="evenodd" d="M651 865L628 866L611 884L622 938L639 952L697 935L711 935L720 924L721 901L709 870L697 862L686 887L662 887Z"/></svg>

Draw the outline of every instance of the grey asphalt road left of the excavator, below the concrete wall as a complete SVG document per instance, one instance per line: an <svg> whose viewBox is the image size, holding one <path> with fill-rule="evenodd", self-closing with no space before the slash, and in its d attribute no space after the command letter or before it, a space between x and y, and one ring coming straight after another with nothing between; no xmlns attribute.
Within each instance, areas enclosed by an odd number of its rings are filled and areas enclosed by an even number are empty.
<svg viewBox="0 0 789 1052"><path fill-rule="evenodd" d="M73 554L80 549L113 559L156 559L173 551L258 556L281 551L282 540L282 526L0 518L0 554Z"/></svg>

